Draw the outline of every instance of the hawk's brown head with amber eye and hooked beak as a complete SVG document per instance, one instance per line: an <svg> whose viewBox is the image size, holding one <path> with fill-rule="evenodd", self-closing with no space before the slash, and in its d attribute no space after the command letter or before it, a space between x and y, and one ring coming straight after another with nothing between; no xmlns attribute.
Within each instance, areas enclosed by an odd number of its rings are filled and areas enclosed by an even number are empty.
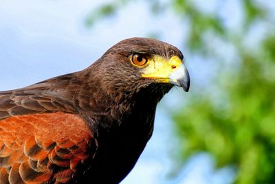
<svg viewBox="0 0 275 184"><path fill-rule="evenodd" d="M151 38L129 38L111 47L95 63L106 87L127 93L149 87L165 89L173 86L188 91L189 73L181 51Z"/></svg>

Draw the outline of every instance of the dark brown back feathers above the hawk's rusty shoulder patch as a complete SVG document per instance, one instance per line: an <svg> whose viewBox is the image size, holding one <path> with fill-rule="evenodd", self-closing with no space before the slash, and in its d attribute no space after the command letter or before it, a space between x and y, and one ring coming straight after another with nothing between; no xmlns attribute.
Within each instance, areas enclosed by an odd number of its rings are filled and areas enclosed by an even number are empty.
<svg viewBox="0 0 275 184"><path fill-rule="evenodd" d="M74 97L80 81L76 73L45 80L22 89L0 92L0 119L63 111L77 113Z"/></svg>

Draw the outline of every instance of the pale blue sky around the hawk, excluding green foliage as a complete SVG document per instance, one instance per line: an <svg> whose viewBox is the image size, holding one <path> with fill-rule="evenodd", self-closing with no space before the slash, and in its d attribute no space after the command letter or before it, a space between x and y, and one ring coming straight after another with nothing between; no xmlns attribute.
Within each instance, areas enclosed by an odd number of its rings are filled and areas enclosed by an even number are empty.
<svg viewBox="0 0 275 184"><path fill-rule="evenodd" d="M93 1L0 0L0 4L0 91L84 69L118 41L146 36L154 30L162 41L182 49L188 31L172 12L153 18L142 1L130 3L115 17L103 20L91 30L84 22L87 14L99 5ZM203 7L211 11L210 6ZM196 65L197 60L192 64L187 60L192 84L210 74L206 67ZM166 108L184 104L186 95L181 89L173 89L166 95L157 108L153 137L122 183L230 183L231 171L214 172L206 154L192 158L179 177L168 179L168 172L173 170L170 144L177 141Z"/></svg>

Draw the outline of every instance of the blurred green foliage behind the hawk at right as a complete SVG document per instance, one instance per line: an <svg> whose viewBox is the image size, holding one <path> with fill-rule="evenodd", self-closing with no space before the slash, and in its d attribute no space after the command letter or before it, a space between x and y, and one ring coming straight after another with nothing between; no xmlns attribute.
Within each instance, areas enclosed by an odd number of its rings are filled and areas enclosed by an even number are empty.
<svg viewBox="0 0 275 184"><path fill-rule="evenodd" d="M104 5L98 9L99 15L96 12L88 20L113 14L117 5L121 7L128 2ZM275 183L274 17L267 2L238 1L241 21L238 27L228 27L221 14L225 8L223 2L206 12L195 1L148 1L155 14L168 8L182 23L188 23L190 30L184 50L219 63L216 75L210 80L212 90L191 86L187 103L173 113L175 132L181 143L177 150L183 161L197 152L208 152L217 168L234 165L235 183ZM230 19L231 15L227 16ZM259 27L264 30L262 36L253 32ZM226 54L219 53L221 45L213 46L209 35L220 41L217 43L236 50L232 58L238 59L229 65L232 69L227 68ZM255 45L246 41L254 38L257 38ZM201 65L207 64L201 62Z"/></svg>

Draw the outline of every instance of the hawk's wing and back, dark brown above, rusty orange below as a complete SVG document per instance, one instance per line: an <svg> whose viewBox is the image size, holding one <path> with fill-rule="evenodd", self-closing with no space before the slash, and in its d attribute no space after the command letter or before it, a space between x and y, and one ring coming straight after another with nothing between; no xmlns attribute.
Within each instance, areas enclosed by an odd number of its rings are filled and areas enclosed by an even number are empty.
<svg viewBox="0 0 275 184"><path fill-rule="evenodd" d="M98 143L78 115L79 89L70 73L0 92L0 183L67 183L85 172Z"/></svg>

